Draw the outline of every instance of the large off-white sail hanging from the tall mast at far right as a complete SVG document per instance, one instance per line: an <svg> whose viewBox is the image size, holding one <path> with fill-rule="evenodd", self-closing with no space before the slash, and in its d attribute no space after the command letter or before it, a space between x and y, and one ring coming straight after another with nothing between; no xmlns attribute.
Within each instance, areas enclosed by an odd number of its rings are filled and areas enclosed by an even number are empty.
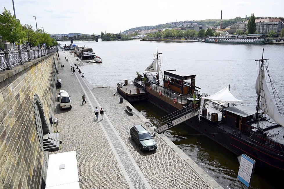
<svg viewBox="0 0 284 189"><path fill-rule="evenodd" d="M256 93L260 94L259 108L274 121L284 127L284 119L276 108L265 81L265 71L260 68L256 79Z"/></svg>

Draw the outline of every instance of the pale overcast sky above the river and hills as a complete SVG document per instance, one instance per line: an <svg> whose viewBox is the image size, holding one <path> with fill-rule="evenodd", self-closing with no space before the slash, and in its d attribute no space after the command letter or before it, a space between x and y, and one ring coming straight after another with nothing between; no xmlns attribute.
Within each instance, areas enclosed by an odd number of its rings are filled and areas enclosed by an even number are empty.
<svg viewBox="0 0 284 189"><path fill-rule="evenodd" d="M154 26L167 22L245 18L284 17L283 0L188 1L188 0L14 0L16 18L21 24L31 24L49 34L100 32L119 33L139 26ZM12 0L0 0L13 12Z"/></svg>

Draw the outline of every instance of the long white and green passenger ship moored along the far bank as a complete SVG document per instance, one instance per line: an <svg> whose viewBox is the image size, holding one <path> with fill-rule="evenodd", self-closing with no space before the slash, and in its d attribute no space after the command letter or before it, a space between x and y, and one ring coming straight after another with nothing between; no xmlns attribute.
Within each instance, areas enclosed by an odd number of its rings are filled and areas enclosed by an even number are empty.
<svg viewBox="0 0 284 189"><path fill-rule="evenodd" d="M206 43L243 43L243 44L266 44L265 34L238 35L224 31L218 35L210 35Z"/></svg>

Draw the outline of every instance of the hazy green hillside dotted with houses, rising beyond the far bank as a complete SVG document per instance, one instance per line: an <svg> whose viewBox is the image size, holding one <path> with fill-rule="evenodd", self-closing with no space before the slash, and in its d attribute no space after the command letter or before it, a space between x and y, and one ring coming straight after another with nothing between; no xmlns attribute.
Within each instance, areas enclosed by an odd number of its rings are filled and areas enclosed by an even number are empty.
<svg viewBox="0 0 284 189"><path fill-rule="evenodd" d="M247 18L249 19L249 18ZM231 26L234 23L237 23L238 21L246 21L247 19L236 17L234 19L229 20L222 20L223 26ZM180 22L172 22L172 23L166 23L166 24L159 24L156 26L140 26L136 28L131 28L129 30L125 30L123 33L130 32L130 31L136 31L136 30L151 30L151 29L162 29L162 28L186 28L190 26L196 26L196 25L203 25L203 26L220 26L220 19L207 19L207 20L199 20L199 21L180 21Z"/></svg>

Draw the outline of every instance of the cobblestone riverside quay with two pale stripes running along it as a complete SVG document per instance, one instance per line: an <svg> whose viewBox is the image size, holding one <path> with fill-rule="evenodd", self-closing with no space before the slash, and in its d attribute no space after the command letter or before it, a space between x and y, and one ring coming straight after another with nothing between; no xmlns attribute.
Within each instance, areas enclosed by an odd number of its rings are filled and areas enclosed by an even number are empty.
<svg viewBox="0 0 284 189"><path fill-rule="evenodd" d="M56 102L59 124L55 131L60 132L62 144L60 150L49 154L76 151L80 188L222 188L163 134L154 137L156 151L141 152L129 131L142 125L153 133L153 127L145 123L148 120L126 100L121 103L116 91L90 86L80 77L73 55L59 51L59 56L62 88L58 90L71 95L72 109L60 110ZM60 69L61 64L64 69ZM82 105L83 94L86 104ZM125 106L132 108L133 114ZM103 108L104 119L100 115L95 119L95 107Z"/></svg>

